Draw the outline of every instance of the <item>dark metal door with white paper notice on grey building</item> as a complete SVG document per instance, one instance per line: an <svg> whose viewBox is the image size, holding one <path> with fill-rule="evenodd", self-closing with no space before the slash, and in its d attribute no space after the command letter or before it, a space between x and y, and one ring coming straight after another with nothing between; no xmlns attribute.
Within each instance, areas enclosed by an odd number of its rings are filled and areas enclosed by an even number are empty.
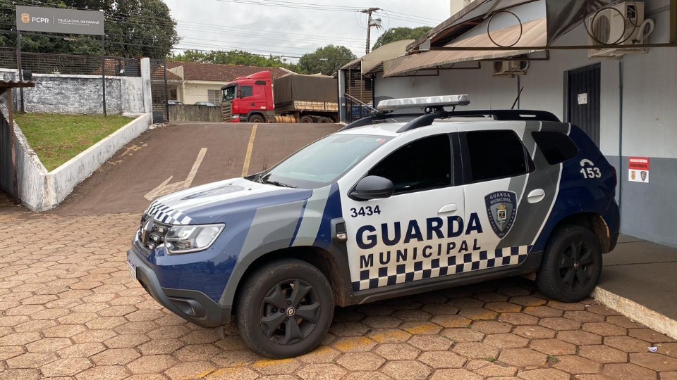
<svg viewBox="0 0 677 380"><path fill-rule="evenodd" d="M567 121L577 125L599 146L601 65L567 72Z"/></svg>

